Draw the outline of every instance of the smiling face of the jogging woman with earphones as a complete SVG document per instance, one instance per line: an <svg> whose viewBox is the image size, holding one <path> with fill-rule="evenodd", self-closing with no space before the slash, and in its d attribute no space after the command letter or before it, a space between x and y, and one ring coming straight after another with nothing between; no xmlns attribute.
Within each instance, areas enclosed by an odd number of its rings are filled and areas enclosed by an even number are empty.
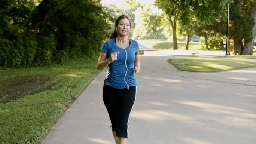
<svg viewBox="0 0 256 144"><path fill-rule="evenodd" d="M116 28L119 36L127 36L130 32L129 20L127 18L120 19Z"/></svg>

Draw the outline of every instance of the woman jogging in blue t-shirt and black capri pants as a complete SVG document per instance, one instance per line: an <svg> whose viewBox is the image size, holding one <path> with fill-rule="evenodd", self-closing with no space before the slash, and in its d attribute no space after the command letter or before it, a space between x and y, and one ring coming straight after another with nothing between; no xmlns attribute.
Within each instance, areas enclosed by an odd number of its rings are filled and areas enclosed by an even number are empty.
<svg viewBox="0 0 256 144"><path fill-rule="evenodd" d="M107 66L103 101L116 144L127 144L129 116L137 93L133 71L140 73L138 42L128 39L130 28L131 22L127 16L116 19L115 30L103 44L97 63L98 70Z"/></svg>

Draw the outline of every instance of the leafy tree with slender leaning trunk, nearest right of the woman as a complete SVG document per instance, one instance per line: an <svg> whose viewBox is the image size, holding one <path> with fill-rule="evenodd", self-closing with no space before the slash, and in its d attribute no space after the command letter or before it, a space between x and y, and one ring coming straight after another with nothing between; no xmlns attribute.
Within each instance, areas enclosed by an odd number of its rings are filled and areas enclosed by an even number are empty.
<svg viewBox="0 0 256 144"><path fill-rule="evenodd" d="M214 25L214 18L226 18L225 3L227 0L156 0L156 5L169 17L173 29L174 49L177 49L177 21L182 26L191 25L195 17L201 25Z"/></svg>

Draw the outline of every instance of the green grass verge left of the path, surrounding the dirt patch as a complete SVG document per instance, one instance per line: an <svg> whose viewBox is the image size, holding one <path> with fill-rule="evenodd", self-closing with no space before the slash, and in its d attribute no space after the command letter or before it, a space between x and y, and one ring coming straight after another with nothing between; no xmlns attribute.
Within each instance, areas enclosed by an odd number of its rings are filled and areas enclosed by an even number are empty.
<svg viewBox="0 0 256 144"><path fill-rule="evenodd" d="M0 69L0 83L17 77L20 80L22 77L47 77L47 81L37 88L44 89L0 103L0 144L40 143L71 103L97 76L99 71L96 64L97 59L94 58L49 67Z"/></svg>

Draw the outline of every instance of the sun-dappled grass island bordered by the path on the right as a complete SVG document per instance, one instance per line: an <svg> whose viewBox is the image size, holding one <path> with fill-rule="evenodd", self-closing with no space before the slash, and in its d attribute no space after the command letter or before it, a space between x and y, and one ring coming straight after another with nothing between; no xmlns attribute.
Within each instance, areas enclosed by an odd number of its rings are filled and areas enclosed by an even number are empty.
<svg viewBox="0 0 256 144"><path fill-rule="evenodd" d="M218 72L256 67L256 62L241 61L169 59L168 62L179 70L191 72Z"/></svg>

